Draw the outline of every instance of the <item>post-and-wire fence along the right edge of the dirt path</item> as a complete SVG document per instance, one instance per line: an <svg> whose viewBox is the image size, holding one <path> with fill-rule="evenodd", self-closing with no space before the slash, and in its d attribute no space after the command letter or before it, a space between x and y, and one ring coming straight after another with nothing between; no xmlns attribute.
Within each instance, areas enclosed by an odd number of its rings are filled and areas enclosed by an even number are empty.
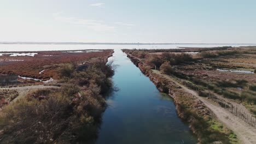
<svg viewBox="0 0 256 144"><path fill-rule="evenodd" d="M228 110L229 112L233 113L235 116L241 118L246 123L252 125L254 128L256 128L256 118L251 115L251 113L248 113L247 111L241 109L240 107L234 106L233 104L227 102L226 100L217 97L213 93L205 92L202 88L197 87L193 85L192 83L182 81L183 85L195 90L197 93L199 93L202 97L207 97L214 101L215 103L219 104L224 109Z"/></svg>

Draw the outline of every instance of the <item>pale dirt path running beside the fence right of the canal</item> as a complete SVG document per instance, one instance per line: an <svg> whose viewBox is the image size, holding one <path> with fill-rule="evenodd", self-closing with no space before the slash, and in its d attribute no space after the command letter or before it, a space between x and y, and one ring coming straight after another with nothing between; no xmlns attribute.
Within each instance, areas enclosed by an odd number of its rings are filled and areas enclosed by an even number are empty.
<svg viewBox="0 0 256 144"><path fill-rule="evenodd" d="M154 73L160 74L159 71L153 70ZM160 74L162 75L162 74ZM213 111L213 113L217 116L220 122L224 123L227 127L229 127L232 131L235 132L238 139L241 143L245 144L255 144L256 143L256 129L251 125L244 122L242 119L236 117L234 114L226 111L222 107L213 103L213 101L208 100L207 98L200 97L197 92L183 86L181 83L172 79L170 76L164 75L167 79L170 79L176 85L182 87L186 92L195 95L198 99L200 99L209 109Z"/></svg>

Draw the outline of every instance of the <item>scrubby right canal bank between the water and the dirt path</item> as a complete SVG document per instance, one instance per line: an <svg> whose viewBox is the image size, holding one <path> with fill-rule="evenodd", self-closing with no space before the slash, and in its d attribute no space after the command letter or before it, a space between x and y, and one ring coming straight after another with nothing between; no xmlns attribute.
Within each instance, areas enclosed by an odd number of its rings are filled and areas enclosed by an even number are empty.
<svg viewBox="0 0 256 144"><path fill-rule="evenodd" d="M205 100L196 92L180 85L171 76L163 75L158 70L150 70L141 59L130 54L127 57L149 77L160 92L173 98L178 116L189 123L199 143L237 143L234 132L219 122L218 116L212 112L212 107L210 110L203 102Z"/></svg>

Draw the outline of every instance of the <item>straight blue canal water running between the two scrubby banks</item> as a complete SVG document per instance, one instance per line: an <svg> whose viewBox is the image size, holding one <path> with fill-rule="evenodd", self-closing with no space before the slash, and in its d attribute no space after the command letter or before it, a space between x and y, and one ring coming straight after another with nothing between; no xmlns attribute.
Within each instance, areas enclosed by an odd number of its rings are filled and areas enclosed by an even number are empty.
<svg viewBox="0 0 256 144"><path fill-rule="evenodd" d="M178 118L172 99L115 50L113 76L119 91L109 94L96 143L196 143L188 125Z"/></svg>

